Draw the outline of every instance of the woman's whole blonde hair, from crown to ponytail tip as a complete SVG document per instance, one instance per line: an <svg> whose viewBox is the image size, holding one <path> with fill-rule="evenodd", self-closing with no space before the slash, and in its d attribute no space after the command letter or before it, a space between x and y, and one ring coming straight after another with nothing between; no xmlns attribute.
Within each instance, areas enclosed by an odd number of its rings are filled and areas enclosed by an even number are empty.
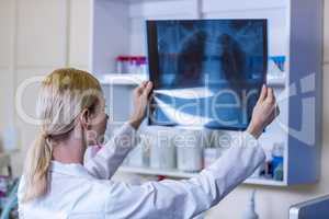
<svg viewBox="0 0 329 219"><path fill-rule="evenodd" d="M82 70L57 69L44 79L36 106L42 122L41 131L27 152L23 201L42 197L48 192L52 138L70 132L79 113L93 107L100 94L99 81Z"/></svg>

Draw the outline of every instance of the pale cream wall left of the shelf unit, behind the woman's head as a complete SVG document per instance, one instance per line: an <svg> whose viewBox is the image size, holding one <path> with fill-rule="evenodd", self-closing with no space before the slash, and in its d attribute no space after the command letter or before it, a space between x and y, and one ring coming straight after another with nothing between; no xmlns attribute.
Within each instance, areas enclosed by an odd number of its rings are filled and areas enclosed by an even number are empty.
<svg viewBox="0 0 329 219"><path fill-rule="evenodd" d="M21 152L12 159L16 174L36 127L16 115L15 89L55 68L88 68L89 5L89 0L0 0L0 136L8 127L18 129ZM31 85L23 95L29 115L34 114L36 89Z"/></svg>

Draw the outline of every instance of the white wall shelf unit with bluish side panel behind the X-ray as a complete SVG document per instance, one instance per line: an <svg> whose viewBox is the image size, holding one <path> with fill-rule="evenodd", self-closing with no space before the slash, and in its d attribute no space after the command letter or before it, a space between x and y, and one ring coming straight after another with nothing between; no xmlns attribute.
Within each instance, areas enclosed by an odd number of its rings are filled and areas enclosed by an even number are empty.
<svg viewBox="0 0 329 219"><path fill-rule="evenodd" d="M131 91L146 76L111 74L118 55L146 55L145 20L268 19L269 56L285 56L281 77L271 72L281 115L260 138L270 151L283 142L284 180L249 178L248 184L288 186L319 176L321 128L322 0L93 0L90 69L101 80L114 120L128 117ZM307 53L305 53L307 51ZM191 177L177 170L122 168L123 172Z"/></svg>

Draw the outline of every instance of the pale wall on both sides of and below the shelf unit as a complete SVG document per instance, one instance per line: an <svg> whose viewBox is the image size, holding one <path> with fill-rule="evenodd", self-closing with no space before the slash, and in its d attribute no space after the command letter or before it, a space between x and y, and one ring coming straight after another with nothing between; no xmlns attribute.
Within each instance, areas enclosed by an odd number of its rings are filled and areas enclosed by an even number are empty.
<svg viewBox="0 0 329 219"><path fill-rule="evenodd" d="M287 218L288 206L329 194L329 2L325 9L324 139L320 182L310 186L272 188L256 186L257 209L261 218ZM36 128L13 112L15 88L31 76L44 76L54 68L88 67L90 0L0 0L0 132L15 124L21 153L13 157L21 173L25 148ZM24 105L33 114L35 89L24 94ZM238 164L238 163L237 163ZM302 173L303 174L303 173ZM206 218L240 218L253 186L242 185L228 195Z"/></svg>

